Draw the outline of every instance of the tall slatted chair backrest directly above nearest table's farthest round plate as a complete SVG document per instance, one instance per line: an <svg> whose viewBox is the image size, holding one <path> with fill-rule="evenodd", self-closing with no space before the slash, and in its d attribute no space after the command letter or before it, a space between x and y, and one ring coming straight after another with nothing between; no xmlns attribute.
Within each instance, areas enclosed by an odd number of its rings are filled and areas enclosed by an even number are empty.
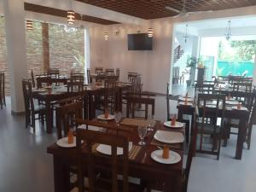
<svg viewBox="0 0 256 192"><path fill-rule="evenodd" d="M104 110L113 113L117 108L117 82L116 79L107 79L104 82Z"/></svg>

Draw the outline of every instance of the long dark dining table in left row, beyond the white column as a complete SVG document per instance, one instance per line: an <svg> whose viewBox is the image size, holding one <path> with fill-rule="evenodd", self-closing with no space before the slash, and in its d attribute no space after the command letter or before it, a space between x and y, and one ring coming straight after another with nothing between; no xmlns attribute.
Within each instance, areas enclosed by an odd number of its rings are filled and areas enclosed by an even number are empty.
<svg viewBox="0 0 256 192"><path fill-rule="evenodd" d="M72 97L72 96L79 96L76 92L67 92L67 85L61 86L51 86L52 89L46 90L45 88L40 89L33 89L32 90L32 97L38 99L38 101L44 102L45 105L45 122L46 122L46 131L47 133L52 132L53 127L53 118L54 113L51 108L51 103L53 102L60 102L62 99ZM119 110L122 109L122 95L123 91L129 90L131 84L120 83L118 85L118 108ZM96 117L96 102L95 97L98 94L104 93L104 86L96 86L95 84L84 84L84 117L86 119L93 119Z"/></svg>

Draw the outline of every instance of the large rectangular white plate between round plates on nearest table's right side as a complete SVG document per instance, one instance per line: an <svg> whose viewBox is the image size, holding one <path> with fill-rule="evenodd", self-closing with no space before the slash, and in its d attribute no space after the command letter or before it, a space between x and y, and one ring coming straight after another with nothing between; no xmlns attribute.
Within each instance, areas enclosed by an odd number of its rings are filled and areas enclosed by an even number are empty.
<svg viewBox="0 0 256 192"><path fill-rule="evenodd" d="M156 131L154 139L162 143L183 143L184 136L182 132L177 131Z"/></svg>

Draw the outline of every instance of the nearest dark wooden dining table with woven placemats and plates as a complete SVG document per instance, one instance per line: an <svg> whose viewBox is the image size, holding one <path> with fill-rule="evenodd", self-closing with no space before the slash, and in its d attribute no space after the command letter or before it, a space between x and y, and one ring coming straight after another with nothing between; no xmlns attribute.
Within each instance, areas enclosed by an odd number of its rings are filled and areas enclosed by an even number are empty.
<svg viewBox="0 0 256 192"><path fill-rule="evenodd" d="M97 119L93 119L92 121L95 121L97 125L106 125ZM115 125L115 122L111 120L108 121L107 124ZM152 160L150 156L154 150L159 149L158 144L153 143L155 131L177 130L167 128L159 121L155 121L154 131L149 131L147 137L144 139L144 141L147 143L145 146L138 146L140 139L137 134L137 126L119 125L116 130L112 129L108 130L108 132L114 131L113 134L116 134L118 130L125 130L127 133L129 132L129 141L133 143L133 146L140 148L136 157L132 160L129 159L129 176L141 178L143 181L158 181L165 183L165 192L180 191L183 179L183 143L176 143L173 144L173 147L172 145L170 147L171 150L176 151L181 155L181 160L176 164L160 164ZM55 192L67 192L69 183L69 167L77 166L77 148L61 148L56 143L53 143L47 148L47 153L53 155ZM85 144L84 155L86 156ZM108 155L96 152L96 158L98 158L97 160L102 160L102 162L105 162L102 158L106 158L106 156Z"/></svg>

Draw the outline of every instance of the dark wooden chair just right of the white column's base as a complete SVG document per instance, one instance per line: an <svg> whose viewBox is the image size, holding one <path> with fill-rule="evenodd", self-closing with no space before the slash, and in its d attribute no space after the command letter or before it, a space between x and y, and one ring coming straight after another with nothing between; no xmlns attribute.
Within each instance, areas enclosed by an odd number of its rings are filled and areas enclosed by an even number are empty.
<svg viewBox="0 0 256 192"><path fill-rule="evenodd" d="M44 115L47 112L45 111L44 106L34 105L34 100L32 97L32 83L29 79L22 79L22 90L26 109L26 128L28 125L30 125L32 126L33 131L35 132L36 119L44 120ZM36 118L36 114L38 114L38 118Z"/></svg>

